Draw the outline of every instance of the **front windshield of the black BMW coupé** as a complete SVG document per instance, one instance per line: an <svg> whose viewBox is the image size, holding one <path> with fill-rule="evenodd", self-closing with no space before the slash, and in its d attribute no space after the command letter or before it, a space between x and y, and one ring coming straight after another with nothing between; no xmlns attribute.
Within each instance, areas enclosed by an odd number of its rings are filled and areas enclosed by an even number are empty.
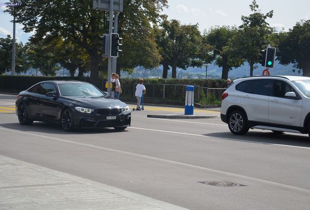
<svg viewBox="0 0 310 210"><path fill-rule="evenodd" d="M78 97L103 97L95 86L87 83L67 83L59 84L60 94L62 96L78 96Z"/></svg>

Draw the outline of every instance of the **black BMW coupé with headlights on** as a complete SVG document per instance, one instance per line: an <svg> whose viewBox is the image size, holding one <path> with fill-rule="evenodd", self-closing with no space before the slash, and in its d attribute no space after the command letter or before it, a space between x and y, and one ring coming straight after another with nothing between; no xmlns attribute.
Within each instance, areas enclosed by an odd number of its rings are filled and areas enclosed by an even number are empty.
<svg viewBox="0 0 310 210"><path fill-rule="evenodd" d="M65 131L75 127L114 127L131 123L125 103L109 98L87 82L44 81L19 93L16 114L22 125L33 121L59 123Z"/></svg>

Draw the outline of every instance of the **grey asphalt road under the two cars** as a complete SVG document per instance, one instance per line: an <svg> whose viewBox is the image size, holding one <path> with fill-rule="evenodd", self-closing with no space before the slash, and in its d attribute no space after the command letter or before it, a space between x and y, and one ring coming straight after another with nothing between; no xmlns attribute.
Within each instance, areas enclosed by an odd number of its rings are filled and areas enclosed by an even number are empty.
<svg viewBox="0 0 310 210"><path fill-rule="evenodd" d="M12 106L15 98L0 95L0 106ZM234 136L219 117L146 118L157 113L147 106L133 112L126 131L64 132L47 123L22 126L14 113L2 112L0 155L191 210L309 210L307 135L250 130ZM200 183L207 181L246 186Z"/></svg>

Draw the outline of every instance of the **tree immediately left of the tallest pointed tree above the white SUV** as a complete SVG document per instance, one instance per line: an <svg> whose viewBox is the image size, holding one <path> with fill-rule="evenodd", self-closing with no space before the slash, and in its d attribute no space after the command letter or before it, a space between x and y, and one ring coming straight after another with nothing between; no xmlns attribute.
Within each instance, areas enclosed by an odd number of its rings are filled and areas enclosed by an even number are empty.
<svg viewBox="0 0 310 210"><path fill-rule="evenodd" d="M213 47L211 60L214 60L217 66L222 67L222 79L227 79L228 71L242 64L242 59L234 53L234 46L231 45L236 34L237 29L230 26L216 26L209 31L204 31L204 43Z"/></svg>

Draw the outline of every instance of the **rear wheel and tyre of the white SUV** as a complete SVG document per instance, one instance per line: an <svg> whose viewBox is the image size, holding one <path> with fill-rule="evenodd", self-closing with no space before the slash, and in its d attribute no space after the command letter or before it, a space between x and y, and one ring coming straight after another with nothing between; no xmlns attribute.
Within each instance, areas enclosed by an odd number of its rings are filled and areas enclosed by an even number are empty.
<svg viewBox="0 0 310 210"><path fill-rule="evenodd" d="M243 135L249 131L247 118L243 111L233 110L228 118L228 127L235 135Z"/></svg>

